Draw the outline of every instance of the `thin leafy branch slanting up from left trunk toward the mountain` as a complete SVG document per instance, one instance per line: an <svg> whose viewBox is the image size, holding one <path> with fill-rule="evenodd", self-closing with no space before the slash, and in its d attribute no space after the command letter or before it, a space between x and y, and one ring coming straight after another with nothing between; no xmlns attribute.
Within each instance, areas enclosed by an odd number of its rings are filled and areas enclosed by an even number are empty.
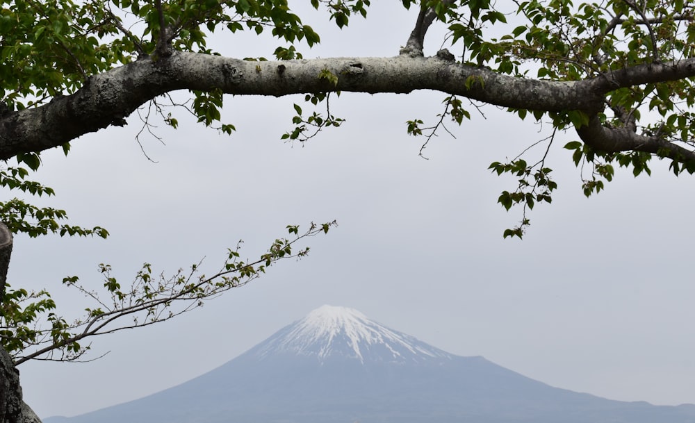
<svg viewBox="0 0 695 423"><path fill-rule="evenodd" d="M306 256L309 247L294 251L295 245L305 238L327 233L332 226L337 226L337 223L312 223L304 233L298 232L298 226L288 226L289 233L294 233L295 238L276 239L265 254L250 263L239 259L238 248L229 250L227 260L212 276L199 274L198 264L191 266L190 272L183 273L183 269L179 269L170 278L165 278L162 274L159 279L153 279L151 267L146 263L131 287L124 291L115 278L110 276L111 267L101 265L101 273L106 280L104 287L111 296L113 306L106 306L108 301L101 301L94 292L77 284L76 278L67 278L67 282L64 280L64 283L91 297L101 307L85 309L86 317L72 324L65 323L62 317L52 321L49 319L52 322L50 326L36 329L33 338L22 340L22 346L16 347L10 353L13 354L15 365L40 357L63 361L79 359L85 350L89 349L78 344L84 338L164 322L202 306L204 301L218 297L222 292L254 281L279 260ZM7 329L18 333L17 322L10 323ZM24 321L19 322L19 326L25 324ZM61 354L58 359L54 358L56 351Z"/></svg>

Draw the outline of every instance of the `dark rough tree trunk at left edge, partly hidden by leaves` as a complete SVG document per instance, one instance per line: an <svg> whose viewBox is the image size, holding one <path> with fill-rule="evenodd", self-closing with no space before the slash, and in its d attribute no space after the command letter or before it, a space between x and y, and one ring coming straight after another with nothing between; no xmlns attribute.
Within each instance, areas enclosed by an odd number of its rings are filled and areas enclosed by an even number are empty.
<svg viewBox="0 0 695 423"><path fill-rule="evenodd" d="M12 254L12 233L5 224L0 223L0 304L5 297L10 254ZM10 354L2 348L0 348L0 423L41 423L33 410L22 401L19 370L15 367Z"/></svg>

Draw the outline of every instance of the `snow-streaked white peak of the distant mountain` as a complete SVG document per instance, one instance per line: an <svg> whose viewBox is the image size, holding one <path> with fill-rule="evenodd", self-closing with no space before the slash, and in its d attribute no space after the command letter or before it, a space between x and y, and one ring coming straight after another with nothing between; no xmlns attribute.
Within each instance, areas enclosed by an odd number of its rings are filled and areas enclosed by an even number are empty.
<svg viewBox="0 0 695 423"><path fill-rule="evenodd" d="M286 326L264 345L260 356L291 352L319 360L343 356L365 361L422 361L450 354L369 320L347 307L322 306Z"/></svg>

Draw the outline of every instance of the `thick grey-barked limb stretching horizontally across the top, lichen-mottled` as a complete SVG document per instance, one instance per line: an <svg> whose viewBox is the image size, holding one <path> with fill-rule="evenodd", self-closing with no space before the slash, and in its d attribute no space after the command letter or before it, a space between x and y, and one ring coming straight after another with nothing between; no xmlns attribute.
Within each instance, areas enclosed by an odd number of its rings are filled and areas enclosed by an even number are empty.
<svg viewBox="0 0 695 423"><path fill-rule="evenodd" d="M129 65L91 76L83 88L50 103L0 116L0 159L58 147L85 133L124 118L143 103L175 90L220 89L228 94L283 96L311 92L393 92L437 90L485 103L528 110L582 110L591 116L604 107L605 94L616 88L695 76L695 58L678 63L638 65L584 81L516 78L490 69L446 60L402 54L393 58L326 58L254 62L202 53L173 53L157 60L145 57ZM327 69L338 77L333 85L318 75ZM655 142L626 131L580 131L597 149L607 147L653 151ZM616 137L621 143L616 144ZM645 140L648 141L645 144ZM667 144L667 147L670 144ZM617 147L616 147L617 146ZM685 159L695 155L688 153ZM682 155L682 152L681 154Z"/></svg>

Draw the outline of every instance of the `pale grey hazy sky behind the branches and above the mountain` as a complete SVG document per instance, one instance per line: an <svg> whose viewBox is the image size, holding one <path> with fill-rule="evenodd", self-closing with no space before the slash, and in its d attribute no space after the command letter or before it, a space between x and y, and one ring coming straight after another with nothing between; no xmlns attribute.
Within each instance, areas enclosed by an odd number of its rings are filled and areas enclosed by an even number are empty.
<svg viewBox="0 0 695 423"><path fill-rule="evenodd" d="M377 3L377 2L374 2ZM416 13L398 1L375 4L343 31L325 15L305 21L322 35L306 57L395 56ZM440 31L441 34L441 31ZM277 43L216 39L228 56L272 56ZM256 42L256 44L253 44ZM429 39L433 53L436 35ZM38 179L54 187L47 204L74 224L101 225L108 240L17 236L13 285L49 288L65 315L90 306L60 287L78 274L101 285L99 263L130 281L147 261L173 272L205 257L222 263L245 240L257 256L287 224L337 219L309 241L311 254L284 262L177 320L93 339L92 363L20 366L25 399L42 417L75 415L136 399L234 358L322 304L349 306L373 320L463 356L481 355L533 379L611 399L695 403L695 284L691 224L694 180L654 163L653 176L618 172L586 199L560 135L548 165L559 190L530 214L523 241L502 231L521 210L496 204L514 179L486 168L544 138L549 126L492 107L450 126L418 157L422 139L405 122L434 122L443 94L343 93L332 112L347 119L310 142L279 140L291 129L295 98L227 97L231 137L183 119L157 128L166 145L134 139L136 116L49 151ZM304 105L302 105L304 106ZM304 106L309 110L308 106ZM539 158L542 150L531 151Z"/></svg>

